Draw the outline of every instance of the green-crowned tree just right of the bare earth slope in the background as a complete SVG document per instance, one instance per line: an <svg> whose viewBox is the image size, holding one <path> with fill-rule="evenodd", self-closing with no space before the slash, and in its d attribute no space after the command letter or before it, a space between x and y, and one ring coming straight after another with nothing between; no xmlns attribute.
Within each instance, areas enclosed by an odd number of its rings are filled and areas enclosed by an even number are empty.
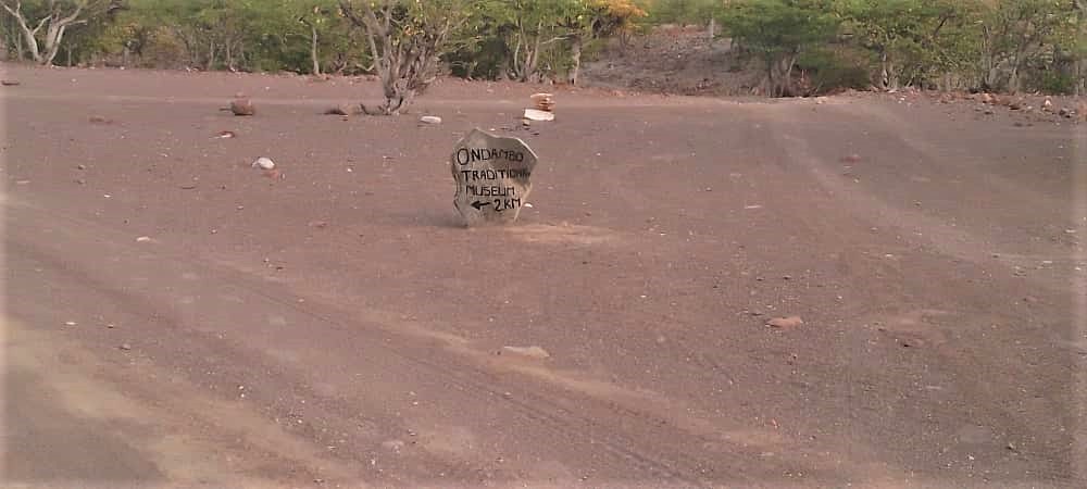
<svg viewBox="0 0 1087 489"><path fill-rule="evenodd" d="M822 0L738 0L723 10L721 25L762 60L763 92L791 97L797 60L837 32L829 7Z"/></svg>

